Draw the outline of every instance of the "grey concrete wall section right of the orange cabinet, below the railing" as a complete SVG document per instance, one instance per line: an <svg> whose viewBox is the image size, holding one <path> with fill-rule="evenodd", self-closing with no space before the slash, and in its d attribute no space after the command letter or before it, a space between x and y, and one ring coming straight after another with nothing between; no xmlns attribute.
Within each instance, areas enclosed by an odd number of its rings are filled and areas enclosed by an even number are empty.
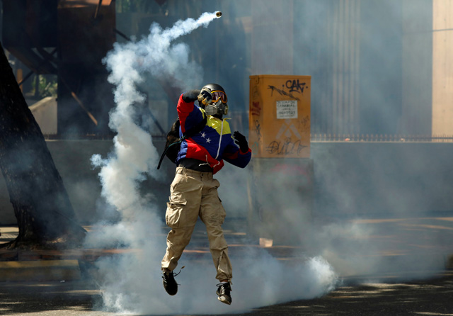
<svg viewBox="0 0 453 316"><path fill-rule="evenodd" d="M315 212L406 216L452 211L452 157L453 143L313 144Z"/></svg>

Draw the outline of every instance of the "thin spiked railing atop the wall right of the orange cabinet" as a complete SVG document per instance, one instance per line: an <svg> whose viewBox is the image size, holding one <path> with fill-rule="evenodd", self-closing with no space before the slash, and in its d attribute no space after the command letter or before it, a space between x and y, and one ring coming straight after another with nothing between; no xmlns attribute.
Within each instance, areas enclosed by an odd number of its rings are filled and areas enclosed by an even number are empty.
<svg viewBox="0 0 453 316"><path fill-rule="evenodd" d="M312 142L453 142L453 135L311 134Z"/></svg>

